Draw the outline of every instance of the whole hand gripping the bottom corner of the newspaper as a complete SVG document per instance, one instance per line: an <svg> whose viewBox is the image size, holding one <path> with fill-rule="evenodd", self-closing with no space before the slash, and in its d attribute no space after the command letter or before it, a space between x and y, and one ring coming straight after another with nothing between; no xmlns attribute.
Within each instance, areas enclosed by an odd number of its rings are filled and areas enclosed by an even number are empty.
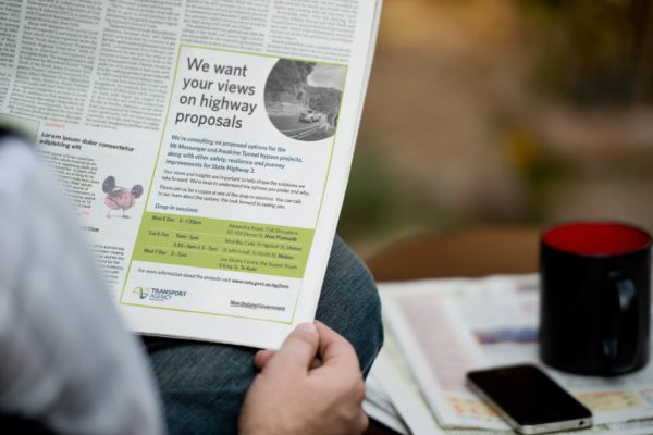
<svg viewBox="0 0 653 435"><path fill-rule="evenodd" d="M261 370L241 412L241 434L358 434L368 418L365 383L352 345L320 322L303 323Z"/></svg>

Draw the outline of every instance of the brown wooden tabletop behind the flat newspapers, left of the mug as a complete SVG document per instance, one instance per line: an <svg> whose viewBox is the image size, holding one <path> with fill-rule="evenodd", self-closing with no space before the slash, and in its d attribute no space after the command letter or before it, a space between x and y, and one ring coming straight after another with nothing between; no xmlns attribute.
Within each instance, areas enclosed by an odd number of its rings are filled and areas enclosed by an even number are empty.
<svg viewBox="0 0 653 435"><path fill-rule="evenodd" d="M423 234L392 244L366 263L378 282L532 273L538 270L538 240L534 227ZM366 434L395 432L371 421Z"/></svg>

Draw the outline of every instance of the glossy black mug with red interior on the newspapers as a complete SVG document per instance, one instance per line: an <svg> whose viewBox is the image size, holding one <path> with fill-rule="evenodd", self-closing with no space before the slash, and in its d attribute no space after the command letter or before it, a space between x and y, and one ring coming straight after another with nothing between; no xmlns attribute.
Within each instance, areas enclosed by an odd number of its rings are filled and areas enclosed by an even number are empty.
<svg viewBox="0 0 653 435"><path fill-rule="evenodd" d="M540 358L614 376L649 361L651 236L614 222L570 222L540 239Z"/></svg>

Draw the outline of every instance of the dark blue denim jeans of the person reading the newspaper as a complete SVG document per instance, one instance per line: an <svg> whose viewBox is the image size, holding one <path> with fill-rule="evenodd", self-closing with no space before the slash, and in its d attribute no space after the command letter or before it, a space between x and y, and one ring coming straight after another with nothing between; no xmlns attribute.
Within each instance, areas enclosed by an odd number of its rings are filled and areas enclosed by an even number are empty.
<svg viewBox="0 0 653 435"><path fill-rule="evenodd" d="M383 343L381 304L369 271L340 237L333 243L316 318L352 343L367 375ZM144 337L144 343L170 434L237 432L241 406L257 374L256 349L157 337Z"/></svg>

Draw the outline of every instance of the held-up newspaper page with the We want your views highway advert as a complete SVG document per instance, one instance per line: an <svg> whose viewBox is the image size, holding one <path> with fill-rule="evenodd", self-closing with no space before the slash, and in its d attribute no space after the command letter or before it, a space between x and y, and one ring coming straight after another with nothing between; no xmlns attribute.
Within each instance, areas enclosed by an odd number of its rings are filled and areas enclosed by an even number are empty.
<svg viewBox="0 0 653 435"><path fill-rule="evenodd" d="M380 8L0 3L0 122L60 175L134 331L275 348L313 318Z"/></svg>

